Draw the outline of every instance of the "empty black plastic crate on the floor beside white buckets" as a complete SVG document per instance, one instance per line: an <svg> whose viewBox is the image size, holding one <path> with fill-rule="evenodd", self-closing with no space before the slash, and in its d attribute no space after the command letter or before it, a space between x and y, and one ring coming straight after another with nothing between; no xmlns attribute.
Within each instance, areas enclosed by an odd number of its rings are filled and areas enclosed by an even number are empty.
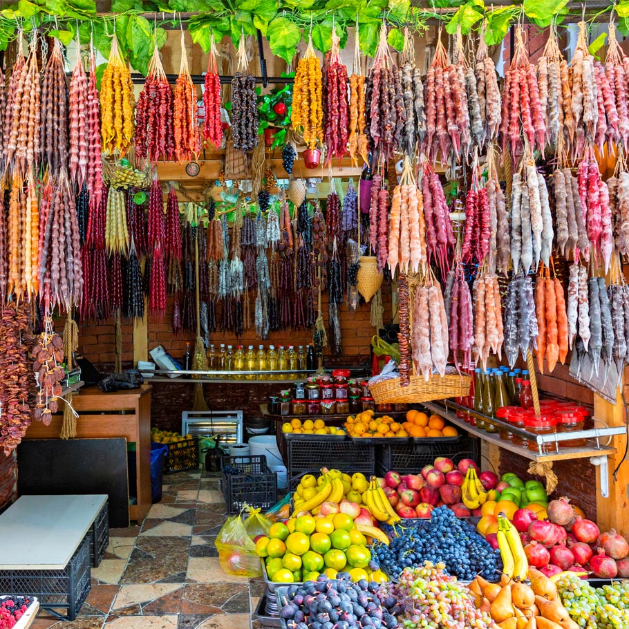
<svg viewBox="0 0 629 629"><path fill-rule="evenodd" d="M227 465L240 469L241 473L225 473ZM277 502L277 474L267 467L263 455L222 457L220 487L230 514L237 514L245 504L270 509Z"/></svg>

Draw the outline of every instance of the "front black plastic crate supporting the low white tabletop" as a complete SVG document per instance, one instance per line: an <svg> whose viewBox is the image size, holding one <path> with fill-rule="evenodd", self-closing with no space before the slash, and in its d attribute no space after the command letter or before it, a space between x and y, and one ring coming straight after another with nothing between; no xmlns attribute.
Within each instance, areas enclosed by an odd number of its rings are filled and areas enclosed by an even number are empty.
<svg viewBox="0 0 629 629"><path fill-rule="evenodd" d="M90 538L88 533L63 570L1 570L0 592L37 597L42 609L74 620L91 590Z"/></svg>

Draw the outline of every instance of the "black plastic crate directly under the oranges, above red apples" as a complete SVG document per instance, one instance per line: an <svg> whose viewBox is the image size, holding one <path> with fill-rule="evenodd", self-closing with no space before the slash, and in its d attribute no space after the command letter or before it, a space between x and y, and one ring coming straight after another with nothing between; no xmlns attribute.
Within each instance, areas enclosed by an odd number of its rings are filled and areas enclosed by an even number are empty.
<svg viewBox="0 0 629 629"><path fill-rule="evenodd" d="M465 458L478 463L478 440L476 437L462 437L456 443L413 443L397 446L384 444L377 447L375 472L377 476L384 476L391 470L417 474L424 465L431 465L438 456L447 456L455 463Z"/></svg>

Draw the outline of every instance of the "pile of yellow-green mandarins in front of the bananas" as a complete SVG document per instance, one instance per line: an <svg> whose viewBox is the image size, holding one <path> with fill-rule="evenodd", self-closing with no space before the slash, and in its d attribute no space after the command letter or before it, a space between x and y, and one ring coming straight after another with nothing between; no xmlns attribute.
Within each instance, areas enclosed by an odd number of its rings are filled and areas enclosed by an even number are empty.
<svg viewBox="0 0 629 629"><path fill-rule="evenodd" d="M267 536L256 539L256 554L264 559L270 581L314 581L320 574L333 579L346 570L353 581L380 581L372 570L367 540L345 513L313 518L302 515L271 525Z"/></svg>

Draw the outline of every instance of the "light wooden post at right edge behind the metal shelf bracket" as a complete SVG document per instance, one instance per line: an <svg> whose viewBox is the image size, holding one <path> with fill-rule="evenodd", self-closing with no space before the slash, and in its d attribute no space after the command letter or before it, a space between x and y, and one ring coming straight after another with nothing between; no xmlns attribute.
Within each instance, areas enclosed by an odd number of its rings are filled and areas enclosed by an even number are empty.
<svg viewBox="0 0 629 629"><path fill-rule="evenodd" d="M603 420L608 426L625 425L625 407L620 392L617 393L616 404L610 404L599 395L594 395L594 417ZM613 455L608 456L610 495L601 496L601 474L597 471L597 524L601 531L616 529L621 535L629 534L629 461L623 462L616 480L612 477L614 469L622 461L626 447L626 435L618 435L610 445L616 448Z"/></svg>

